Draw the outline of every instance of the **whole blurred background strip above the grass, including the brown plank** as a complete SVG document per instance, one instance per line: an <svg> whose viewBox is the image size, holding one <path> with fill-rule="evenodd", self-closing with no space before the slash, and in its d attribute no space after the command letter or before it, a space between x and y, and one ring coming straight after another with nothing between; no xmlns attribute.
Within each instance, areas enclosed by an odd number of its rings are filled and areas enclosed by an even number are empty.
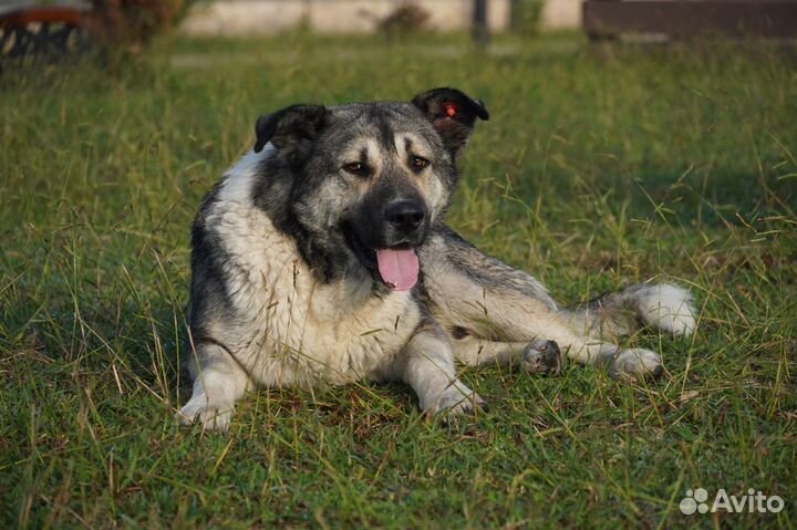
<svg viewBox="0 0 797 530"><path fill-rule="evenodd" d="M794 0L7 0L0 3L2 53L95 43L141 42L176 28L187 35L269 35L470 30L536 33L582 29L591 39L627 34L666 40L700 34L794 37ZM60 31L64 30L68 31ZM48 35L50 35L48 38ZM38 37L38 38L34 38ZM73 37L74 39L74 37ZM49 41L49 42L48 42Z"/></svg>

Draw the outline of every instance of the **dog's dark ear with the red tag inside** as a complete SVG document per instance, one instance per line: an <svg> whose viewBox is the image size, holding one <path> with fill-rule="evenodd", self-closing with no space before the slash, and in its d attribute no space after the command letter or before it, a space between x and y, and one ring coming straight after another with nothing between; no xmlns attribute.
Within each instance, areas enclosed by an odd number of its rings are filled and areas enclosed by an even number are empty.
<svg viewBox="0 0 797 530"><path fill-rule="evenodd" d="M476 118L489 119L484 103L456 89L435 89L416 95L412 103L432 122L454 156L467 145Z"/></svg>

